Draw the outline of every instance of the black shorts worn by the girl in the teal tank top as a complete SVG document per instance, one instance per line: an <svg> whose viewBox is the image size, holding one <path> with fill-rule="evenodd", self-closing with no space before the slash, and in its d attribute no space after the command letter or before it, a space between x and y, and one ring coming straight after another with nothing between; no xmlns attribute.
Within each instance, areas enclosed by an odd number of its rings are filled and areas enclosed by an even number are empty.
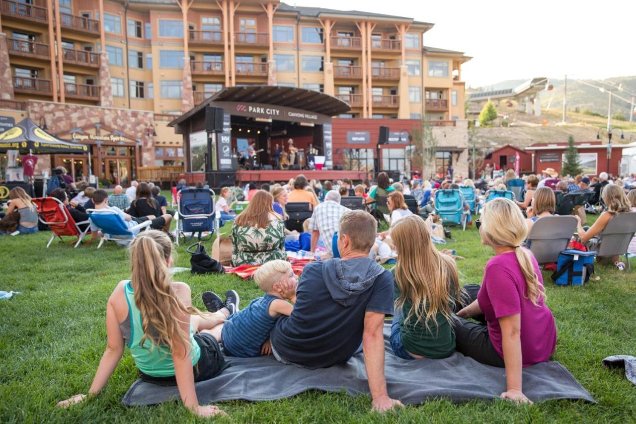
<svg viewBox="0 0 636 424"><path fill-rule="evenodd" d="M192 371L195 374L195 382L209 380L221 374L221 371L226 369L228 364L226 364L221 348L214 336L209 333L197 333L194 337L201 350L201 356L197 364L192 367ZM146 383L153 383L159 386L177 385L175 376L153 377L139 371L139 378L142 381L146 381Z"/></svg>

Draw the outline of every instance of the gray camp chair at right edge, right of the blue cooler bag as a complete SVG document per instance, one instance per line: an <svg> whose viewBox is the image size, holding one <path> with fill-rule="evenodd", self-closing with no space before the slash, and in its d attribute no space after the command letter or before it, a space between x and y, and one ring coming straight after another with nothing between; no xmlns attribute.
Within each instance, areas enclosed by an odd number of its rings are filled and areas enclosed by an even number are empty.
<svg viewBox="0 0 636 424"><path fill-rule="evenodd" d="M598 257L612 257L625 255L627 268L630 266L630 258L627 249L634 233L636 233L636 212L623 212L612 216L605 228L598 234L595 250Z"/></svg>

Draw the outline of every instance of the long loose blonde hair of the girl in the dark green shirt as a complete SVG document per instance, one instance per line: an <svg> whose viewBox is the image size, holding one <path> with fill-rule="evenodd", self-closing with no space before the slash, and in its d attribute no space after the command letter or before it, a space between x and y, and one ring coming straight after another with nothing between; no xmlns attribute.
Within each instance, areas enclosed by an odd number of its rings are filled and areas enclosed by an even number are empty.
<svg viewBox="0 0 636 424"><path fill-rule="evenodd" d="M397 250L395 283L400 294L396 309L410 300L411 309L405 311L404 320L415 316L417 322L424 320L429 331L431 320L436 327L439 324L438 312L451 322L455 299L461 291L453 259L432 245L431 234L419 216L404 216L392 228L391 238Z"/></svg>

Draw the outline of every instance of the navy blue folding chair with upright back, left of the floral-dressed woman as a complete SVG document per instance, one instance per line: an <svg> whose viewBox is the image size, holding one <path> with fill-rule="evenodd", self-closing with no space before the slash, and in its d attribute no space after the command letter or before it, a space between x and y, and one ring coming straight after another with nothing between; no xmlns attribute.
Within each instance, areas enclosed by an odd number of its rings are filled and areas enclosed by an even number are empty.
<svg viewBox="0 0 636 424"><path fill-rule="evenodd" d="M185 238L190 233L198 238L204 231L214 232L214 199L216 195L210 188L184 188L177 193L177 246L179 236Z"/></svg>

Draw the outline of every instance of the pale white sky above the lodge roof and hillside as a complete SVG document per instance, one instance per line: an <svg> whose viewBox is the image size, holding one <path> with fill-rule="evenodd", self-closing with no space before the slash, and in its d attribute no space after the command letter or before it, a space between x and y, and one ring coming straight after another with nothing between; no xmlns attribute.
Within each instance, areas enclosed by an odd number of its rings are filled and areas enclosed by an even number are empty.
<svg viewBox="0 0 636 424"><path fill-rule="evenodd" d="M467 87L545 76L636 75L636 1L282 0L431 22L424 45L465 52ZM587 4L590 4L588 6Z"/></svg>

